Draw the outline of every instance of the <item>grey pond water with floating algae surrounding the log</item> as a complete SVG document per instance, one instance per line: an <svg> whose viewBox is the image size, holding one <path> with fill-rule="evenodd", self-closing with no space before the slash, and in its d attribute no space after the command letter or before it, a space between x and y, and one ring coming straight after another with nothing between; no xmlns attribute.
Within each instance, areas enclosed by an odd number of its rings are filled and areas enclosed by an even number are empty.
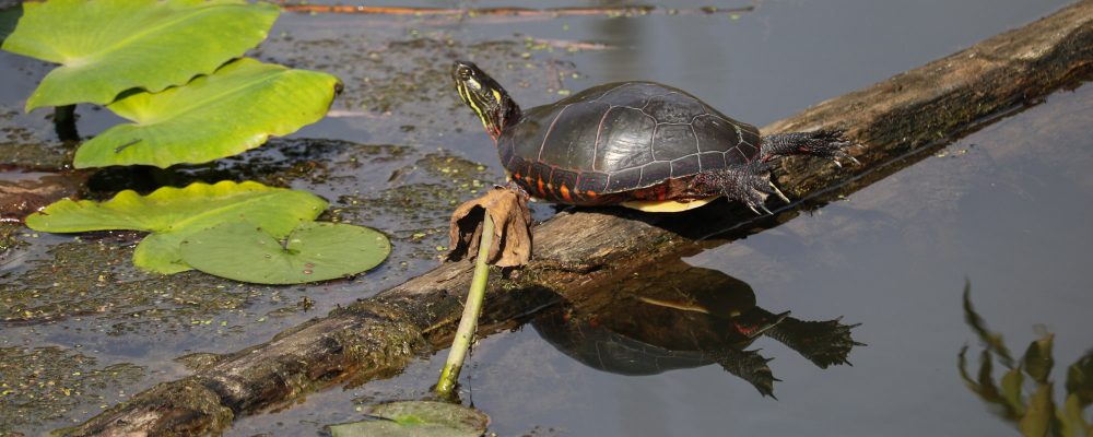
<svg viewBox="0 0 1093 437"><path fill-rule="evenodd" d="M447 82L451 59L469 58L495 72L526 107L598 83L644 79L683 87L762 126L1066 3L763 1L718 3L754 9L717 14L529 21L286 13L255 55L339 75L345 91L331 117L293 140L214 165L103 172L79 192L104 198L121 188L224 178L307 189L331 201L331 217L390 234L391 259L346 281L240 286L195 272L139 272L129 267L138 239L131 234L75 238L9 228L21 243L0 258L0 380L8 385L0 391L16 394L0 397L0 435L82 422L185 375L177 356L266 341L436 265L451 205L503 178L489 139ZM707 5L659 4L684 12ZM21 111L48 69L0 54L7 135L0 157L20 168L0 181L36 177L63 163L64 147L45 111ZM771 314L860 323L850 335L867 345L849 350L853 367L821 368L766 335L748 350L774 358L767 365L780 379L773 382L777 399L708 362L623 375L602 357L577 352L577 340L589 339L550 334L545 317L556 315L544 315L481 340L463 371L461 397L490 414L491 430L503 436L1013 434L957 374L961 347L972 345L973 367L979 352L963 320L961 293L971 283L977 310L1014 351L1038 338L1037 326L1056 334L1059 366L1093 347L1093 295L1083 283L1093 245L1086 226L1093 216L1091 97L1088 85L1056 93L846 201L682 260L712 275L703 281L733 284ZM118 122L86 106L78 114L83 135ZM553 211L536 205L538 218ZM314 307L303 305L304 296ZM581 344L595 351L621 342L612 336ZM315 435L325 424L360 420L361 403L425 395L443 359L442 352L397 378L327 390L292 409L243 418L230 434ZM1055 375L1061 380L1061 369ZM61 395L52 388L59 386L79 392Z"/></svg>

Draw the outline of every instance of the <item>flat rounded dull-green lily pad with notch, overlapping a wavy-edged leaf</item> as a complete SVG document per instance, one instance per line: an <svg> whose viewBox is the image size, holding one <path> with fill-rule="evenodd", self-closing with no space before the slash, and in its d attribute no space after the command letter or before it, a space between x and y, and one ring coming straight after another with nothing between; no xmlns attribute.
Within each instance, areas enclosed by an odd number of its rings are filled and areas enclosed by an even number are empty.
<svg viewBox="0 0 1093 437"><path fill-rule="evenodd" d="M301 284L379 265L391 244L378 231L337 223L302 223L280 241L250 223L224 223L191 234L183 260L202 272L258 284Z"/></svg>

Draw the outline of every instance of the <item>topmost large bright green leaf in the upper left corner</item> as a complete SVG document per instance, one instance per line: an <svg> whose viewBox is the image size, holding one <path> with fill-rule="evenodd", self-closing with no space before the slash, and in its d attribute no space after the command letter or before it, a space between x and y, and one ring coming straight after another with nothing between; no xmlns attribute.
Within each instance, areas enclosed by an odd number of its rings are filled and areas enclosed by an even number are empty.
<svg viewBox="0 0 1093 437"><path fill-rule="evenodd" d="M90 102L130 88L158 92L216 70L266 39L280 10L240 0L25 2L3 49L60 63L26 110Z"/></svg>

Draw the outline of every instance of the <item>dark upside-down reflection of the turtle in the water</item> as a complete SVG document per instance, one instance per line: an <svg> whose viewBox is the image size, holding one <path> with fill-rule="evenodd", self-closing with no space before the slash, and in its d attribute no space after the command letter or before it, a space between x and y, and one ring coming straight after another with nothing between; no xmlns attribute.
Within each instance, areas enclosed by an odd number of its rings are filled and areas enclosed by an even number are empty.
<svg viewBox="0 0 1093 437"><path fill-rule="evenodd" d="M839 319L802 321L789 311L773 314L755 305L743 281L680 261L658 277L634 276L579 306L537 318L532 326L574 359L620 375L718 364L764 395L774 395L769 358L748 347L761 335L775 339L820 368L849 364L856 345ZM599 297L599 296L598 296ZM590 305L590 302L598 302ZM598 310L588 310L595 306ZM585 307L585 308L583 308Z"/></svg>

